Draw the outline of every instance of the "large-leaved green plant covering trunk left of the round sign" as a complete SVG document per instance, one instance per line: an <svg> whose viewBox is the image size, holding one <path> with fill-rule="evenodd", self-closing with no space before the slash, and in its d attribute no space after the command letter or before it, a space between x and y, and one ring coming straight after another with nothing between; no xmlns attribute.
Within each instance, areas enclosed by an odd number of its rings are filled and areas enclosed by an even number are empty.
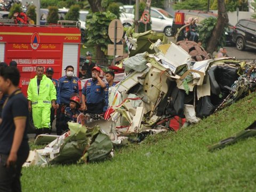
<svg viewBox="0 0 256 192"><path fill-rule="evenodd" d="M117 17L109 11L89 13L86 17L87 44L100 46L105 55L108 44L112 44L108 37L108 26L113 19Z"/></svg>

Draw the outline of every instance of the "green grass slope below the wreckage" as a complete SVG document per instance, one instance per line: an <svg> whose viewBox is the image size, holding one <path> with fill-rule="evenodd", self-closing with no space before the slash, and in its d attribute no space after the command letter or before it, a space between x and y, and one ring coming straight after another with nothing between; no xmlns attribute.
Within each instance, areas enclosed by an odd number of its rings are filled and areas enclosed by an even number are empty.
<svg viewBox="0 0 256 192"><path fill-rule="evenodd" d="M209 152L207 146L255 120L255 93L177 133L115 150L110 161L28 167L23 191L254 191L256 138Z"/></svg>

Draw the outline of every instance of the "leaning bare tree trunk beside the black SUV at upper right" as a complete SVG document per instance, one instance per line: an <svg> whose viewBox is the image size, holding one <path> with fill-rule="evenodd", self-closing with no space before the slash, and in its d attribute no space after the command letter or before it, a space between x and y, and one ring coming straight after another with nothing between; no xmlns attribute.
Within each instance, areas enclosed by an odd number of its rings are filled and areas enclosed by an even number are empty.
<svg viewBox="0 0 256 192"><path fill-rule="evenodd" d="M224 0L218 0L218 20L217 25L214 27L212 36L209 40L209 43L206 47L207 53L213 53L217 47L218 42L220 41L222 31L228 23L228 14L225 7Z"/></svg>

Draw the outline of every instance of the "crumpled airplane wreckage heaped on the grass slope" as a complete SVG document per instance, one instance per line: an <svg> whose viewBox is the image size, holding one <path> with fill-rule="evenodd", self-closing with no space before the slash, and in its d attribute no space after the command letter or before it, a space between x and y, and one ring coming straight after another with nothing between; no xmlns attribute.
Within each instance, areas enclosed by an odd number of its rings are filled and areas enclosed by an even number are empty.
<svg viewBox="0 0 256 192"><path fill-rule="evenodd" d="M36 144L50 143L31 151L26 166L113 157L114 146L178 131L255 89L255 63L212 59L194 42L167 43L154 31L127 31L125 39L130 50L123 60L125 78L109 88L105 119L69 123L70 131L61 136L39 135Z"/></svg>

